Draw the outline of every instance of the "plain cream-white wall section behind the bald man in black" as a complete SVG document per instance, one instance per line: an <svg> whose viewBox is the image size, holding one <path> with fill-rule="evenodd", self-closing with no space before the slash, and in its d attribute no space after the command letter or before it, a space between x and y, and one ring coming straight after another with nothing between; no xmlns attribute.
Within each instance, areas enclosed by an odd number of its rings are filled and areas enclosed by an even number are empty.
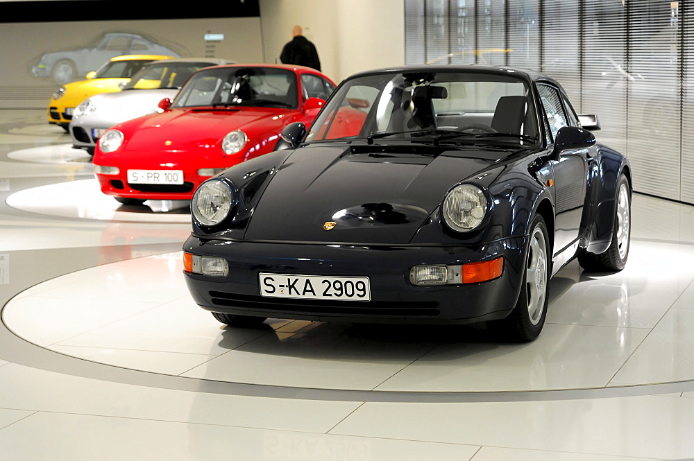
<svg viewBox="0 0 694 461"><path fill-rule="evenodd" d="M403 0L260 0L266 62L280 62L296 24L339 82L359 71L405 64Z"/></svg>

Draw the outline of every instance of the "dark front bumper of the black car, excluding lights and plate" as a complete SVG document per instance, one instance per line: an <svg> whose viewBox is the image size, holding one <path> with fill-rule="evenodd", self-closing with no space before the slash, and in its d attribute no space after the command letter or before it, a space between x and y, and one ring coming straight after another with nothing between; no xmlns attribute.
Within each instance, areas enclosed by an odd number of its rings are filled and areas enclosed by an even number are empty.
<svg viewBox="0 0 694 461"><path fill-rule="evenodd" d="M221 313L296 320L388 323L472 323L506 317L516 305L527 237L475 247L328 245L203 241L183 250L228 261L226 277L186 273L195 302ZM414 286L418 264L458 264L504 256L501 277L480 284ZM262 297L260 272L369 277L371 301Z"/></svg>

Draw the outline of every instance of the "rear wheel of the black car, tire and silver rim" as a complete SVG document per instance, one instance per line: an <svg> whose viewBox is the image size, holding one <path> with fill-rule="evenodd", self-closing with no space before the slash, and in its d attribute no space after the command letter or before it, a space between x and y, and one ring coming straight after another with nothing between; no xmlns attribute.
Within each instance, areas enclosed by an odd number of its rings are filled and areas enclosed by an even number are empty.
<svg viewBox="0 0 694 461"><path fill-rule="evenodd" d="M600 254L583 252L578 255L578 263L584 270L618 272L627 263L632 234L632 193L625 175L621 175L617 183L614 209L612 241L607 250Z"/></svg>

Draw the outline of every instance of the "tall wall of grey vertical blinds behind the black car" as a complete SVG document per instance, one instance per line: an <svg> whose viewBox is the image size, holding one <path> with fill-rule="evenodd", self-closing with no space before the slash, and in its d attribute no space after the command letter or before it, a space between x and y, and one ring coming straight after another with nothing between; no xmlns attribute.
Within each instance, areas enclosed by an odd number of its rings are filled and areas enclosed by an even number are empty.
<svg viewBox="0 0 694 461"><path fill-rule="evenodd" d="M407 64L556 78L634 189L694 203L694 0L405 0Z"/></svg>

